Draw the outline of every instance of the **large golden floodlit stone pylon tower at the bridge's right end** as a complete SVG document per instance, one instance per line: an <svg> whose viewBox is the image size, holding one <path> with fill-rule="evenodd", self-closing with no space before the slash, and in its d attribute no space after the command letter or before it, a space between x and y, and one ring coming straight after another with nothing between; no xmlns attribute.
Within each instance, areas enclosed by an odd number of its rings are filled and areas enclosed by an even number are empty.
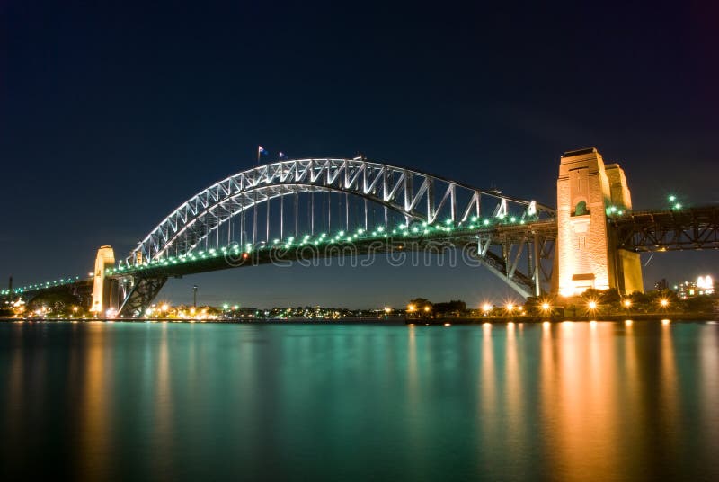
<svg viewBox="0 0 719 482"><path fill-rule="evenodd" d="M639 254L617 249L608 215L632 209L624 171L596 148L565 152L556 186L557 286L562 296L588 288L643 291Z"/></svg>

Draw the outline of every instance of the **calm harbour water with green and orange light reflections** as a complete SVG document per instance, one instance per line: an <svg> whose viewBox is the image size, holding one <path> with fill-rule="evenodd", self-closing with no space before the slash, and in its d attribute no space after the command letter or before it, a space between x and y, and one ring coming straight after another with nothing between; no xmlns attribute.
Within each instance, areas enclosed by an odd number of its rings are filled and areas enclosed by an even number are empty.
<svg viewBox="0 0 719 482"><path fill-rule="evenodd" d="M719 480L719 325L0 324L0 478Z"/></svg>

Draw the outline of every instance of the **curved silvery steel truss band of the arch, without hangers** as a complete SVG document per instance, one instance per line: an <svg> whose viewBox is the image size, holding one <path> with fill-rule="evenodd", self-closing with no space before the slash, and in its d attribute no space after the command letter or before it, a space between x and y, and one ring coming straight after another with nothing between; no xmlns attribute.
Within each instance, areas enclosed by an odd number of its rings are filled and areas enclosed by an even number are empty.
<svg viewBox="0 0 719 482"><path fill-rule="evenodd" d="M417 186L415 188L415 186ZM126 263L155 260L165 254L189 252L209 233L253 205L299 192L346 192L400 212L406 219L434 222L444 213L453 222L470 216L554 215L555 210L475 189L436 175L353 159L294 159L260 165L233 174L197 193L173 210L130 253ZM439 201L437 201L439 200ZM457 204L458 203L458 204ZM182 237L184 236L184 238ZM187 240L190 240L189 242ZM138 256L141 254L141 256Z"/></svg>

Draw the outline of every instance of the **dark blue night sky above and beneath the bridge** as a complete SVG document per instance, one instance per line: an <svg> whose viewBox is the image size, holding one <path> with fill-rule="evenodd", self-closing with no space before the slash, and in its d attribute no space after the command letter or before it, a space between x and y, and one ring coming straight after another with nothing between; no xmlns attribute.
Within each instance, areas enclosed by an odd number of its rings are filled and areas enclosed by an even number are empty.
<svg viewBox="0 0 719 482"><path fill-rule="evenodd" d="M105 244L124 257L260 144L550 205L562 153L595 146L635 209L719 201L719 5L536 4L0 0L0 279L84 274ZM645 285L717 265L656 254ZM380 261L195 275L161 299L193 283L200 302L258 307L510 296L484 269Z"/></svg>

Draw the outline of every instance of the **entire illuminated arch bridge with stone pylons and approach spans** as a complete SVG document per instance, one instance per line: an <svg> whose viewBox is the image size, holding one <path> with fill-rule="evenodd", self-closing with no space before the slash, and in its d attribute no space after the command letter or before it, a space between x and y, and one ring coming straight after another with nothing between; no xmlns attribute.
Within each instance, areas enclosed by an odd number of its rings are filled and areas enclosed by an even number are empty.
<svg viewBox="0 0 719 482"><path fill-rule="evenodd" d="M69 290L97 313L145 313L173 277L317 257L461 251L521 296L643 290L639 253L719 248L716 207L632 211L619 165L595 148L560 162L557 208L437 175L352 159L294 159L231 175L169 213L92 278L4 290ZM88 293L92 292L92 301Z"/></svg>

